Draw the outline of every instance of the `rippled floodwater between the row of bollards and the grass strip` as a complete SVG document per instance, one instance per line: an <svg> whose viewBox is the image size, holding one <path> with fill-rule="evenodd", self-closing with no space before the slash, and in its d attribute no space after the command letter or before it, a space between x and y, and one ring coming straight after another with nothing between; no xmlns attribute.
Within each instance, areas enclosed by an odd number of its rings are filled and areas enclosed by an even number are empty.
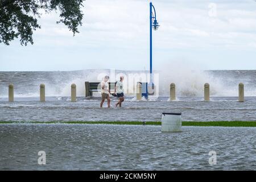
<svg viewBox="0 0 256 182"><path fill-rule="evenodd" d="M117 98L112 97L111 108L100 108L100 98L69 97L16 98L10 103L0 98L0 121L160 121L163 112L181 112L183 121L255 121L256 97L213 97L204 102L202 97L180 97L170 102L168 97L136 101L126 97L122 108L115 108Z"/></svg>

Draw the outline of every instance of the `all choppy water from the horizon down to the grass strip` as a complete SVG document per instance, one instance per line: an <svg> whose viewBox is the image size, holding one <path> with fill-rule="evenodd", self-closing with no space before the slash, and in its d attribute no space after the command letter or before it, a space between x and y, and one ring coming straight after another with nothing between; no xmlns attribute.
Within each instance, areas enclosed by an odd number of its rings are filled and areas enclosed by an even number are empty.
<svg viewBox="0 0 256 182"><path fill-rule="evenodd" d="M130 72L134 73L115 73ZM85 98L84 82L99 81L99 75L111 75L109 70L0 72L0 121L159 121L162 112L181 112L184 121L256 121L256 71L174 73L159 72L158 97L137 102L135 94L125 93L122 109L114 108L114 97L111 109L100 109L99 94ZM124 84L129 78L125 79ZM171 82L176 84L174 102L168 101ZM210 84L210 102L203 101L205 82ZM239 82L245 84L245 102L237 102ZM7 98L10 83L14 84L14 103ZM41 83L46 84L43 103L39 102ZM75 103L70 102L71 83L77 85Z"/></svg>

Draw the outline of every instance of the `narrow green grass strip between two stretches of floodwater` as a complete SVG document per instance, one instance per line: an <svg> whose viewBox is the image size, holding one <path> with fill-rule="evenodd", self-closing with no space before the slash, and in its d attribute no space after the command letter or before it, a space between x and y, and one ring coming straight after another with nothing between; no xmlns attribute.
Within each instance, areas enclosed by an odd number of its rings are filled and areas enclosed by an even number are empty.
<svg viewBox="0 0 256 182"><path fill-rule="evenodd" d="M41 123L41 124L108 124L108 125L142 125L141 121L0 121L0 124ZM148 121L146 125L161 125L160 121ZM222 127L256 127L256 121L183 121L182 126L222 126Z"/></svg>

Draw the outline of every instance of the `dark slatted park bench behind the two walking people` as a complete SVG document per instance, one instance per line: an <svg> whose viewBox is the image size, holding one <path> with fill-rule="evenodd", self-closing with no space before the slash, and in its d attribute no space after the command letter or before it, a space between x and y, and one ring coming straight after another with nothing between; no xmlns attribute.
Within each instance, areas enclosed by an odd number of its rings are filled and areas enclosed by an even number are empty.
<svg viewBox="0 0 256 182"><path fill-rule="evenodd" d="M115 92L117 82L109 82L109 92ZM93 92L101 92L101 82L85 81L85 97L93 96Z"/></svg>

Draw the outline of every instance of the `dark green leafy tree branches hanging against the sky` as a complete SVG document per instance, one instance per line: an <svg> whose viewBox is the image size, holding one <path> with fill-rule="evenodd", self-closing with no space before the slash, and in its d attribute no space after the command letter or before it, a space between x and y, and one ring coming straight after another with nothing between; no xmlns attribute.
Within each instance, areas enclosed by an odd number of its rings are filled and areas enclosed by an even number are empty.
<svg viewBox="0 0 256 182"><path fill-rule="evenodd" d="M79 33L82 25L83 0L0 0L0 43L10 44L11 40L20 38L20 44L33 44L32 34L37 28L40 18L39 10L46 13L60 11L60 20L73 32Z"/></svg>

